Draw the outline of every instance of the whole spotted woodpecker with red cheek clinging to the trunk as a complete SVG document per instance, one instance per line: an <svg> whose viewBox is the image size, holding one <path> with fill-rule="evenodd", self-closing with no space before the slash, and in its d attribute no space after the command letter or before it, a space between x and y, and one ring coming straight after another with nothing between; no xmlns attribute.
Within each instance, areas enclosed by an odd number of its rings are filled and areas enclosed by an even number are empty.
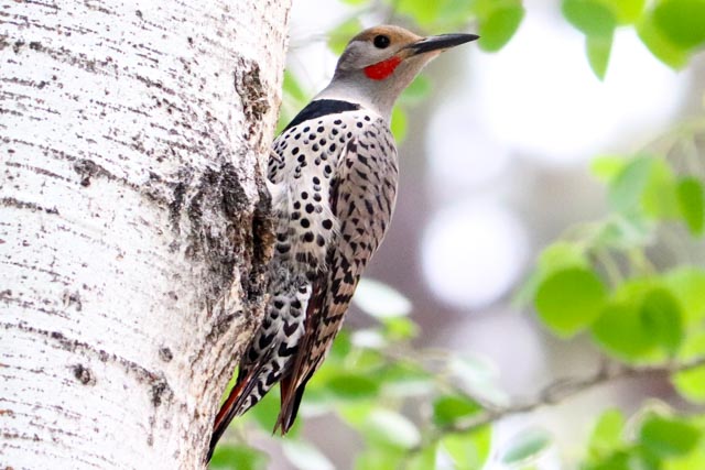
<svg viewBox="0 0 705 470"><path fill-rule="evenodd" d="M401 91L441 52L474 34L421 37L399 26L362 31L333 80L273 143L268 178L278 218L270 304L218 413L209 456L230 420L278 382L274 430L294 423L370 258L389 227L398 162L389 129Z"/></svg>

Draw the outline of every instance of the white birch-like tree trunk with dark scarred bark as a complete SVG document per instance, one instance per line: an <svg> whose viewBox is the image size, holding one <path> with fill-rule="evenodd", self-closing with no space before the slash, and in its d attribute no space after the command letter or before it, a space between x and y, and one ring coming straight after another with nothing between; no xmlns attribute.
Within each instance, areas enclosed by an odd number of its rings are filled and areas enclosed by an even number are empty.
<svg viewBox="0 0 705 470"><path fill-rule="evenodd" d="M203 467L262 313L288 10L0 6L0 468Z"/></svg>

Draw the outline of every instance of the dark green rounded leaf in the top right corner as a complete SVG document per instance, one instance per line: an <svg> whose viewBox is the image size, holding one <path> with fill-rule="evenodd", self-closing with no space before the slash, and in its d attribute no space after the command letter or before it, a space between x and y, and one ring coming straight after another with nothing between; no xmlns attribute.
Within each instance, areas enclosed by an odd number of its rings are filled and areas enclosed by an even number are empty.
<svg viewBox="0 0 705 470"><path fill-rule="evenodd" d="M653 18L663 34L680 47L691 50L705 43L704 0L661 0Z"/></svg>

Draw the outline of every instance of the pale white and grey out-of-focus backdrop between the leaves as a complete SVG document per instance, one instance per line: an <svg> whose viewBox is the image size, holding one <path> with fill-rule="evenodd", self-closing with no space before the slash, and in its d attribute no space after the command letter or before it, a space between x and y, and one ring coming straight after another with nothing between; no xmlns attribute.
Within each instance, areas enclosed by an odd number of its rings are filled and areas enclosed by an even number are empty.
<svg viewBox="0 0 705 470"><path fill-rule="evenodd" d="M360 6L349 3L294 1L289 72L308 97L335 67L328 32L352 18L364 26L404 24L403 17L387 17L388 8L372 4L360 14ZM638 153L669 127L702 113L705 87L702 56L675 72L633 29L617 30L600 80L586 58L585 35L566 22L558 2L523 3L521 25L500 51L470 43L426 68L429 97L403 117L394 220L366 272L411 300L419 347L452 349L484 364L492 398L508 403L599 368L589 338L556 339L530 305L513 299L542 248L606 212L605 187L590 175L590 161ZM446 32L476 32L468 28ZM371 321L354 307L346 326L356 330ZM535 468L573 468L595 417L607 405L633 412L644 396L679 401L662 376L615 382L502 419L492 452L541 426L555 445ZM359 436L332 420L310 418L305 434L335 468L350 468ZM271 468L293 468L272 452ZM503 467L490 459L486 468Z"/></svg>

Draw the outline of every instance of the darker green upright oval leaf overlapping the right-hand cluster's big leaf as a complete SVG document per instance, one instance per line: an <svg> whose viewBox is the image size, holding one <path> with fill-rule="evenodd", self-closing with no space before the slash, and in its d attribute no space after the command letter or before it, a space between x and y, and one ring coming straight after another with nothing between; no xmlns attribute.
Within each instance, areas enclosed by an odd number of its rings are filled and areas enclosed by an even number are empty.
<svg viewBox="0 0 705 470"><path fill-rule="evenodd" d="M641 324L653 340L670 354L675 353L683 341L681 306L663 287L650 291L641 302Z"/></svg>

